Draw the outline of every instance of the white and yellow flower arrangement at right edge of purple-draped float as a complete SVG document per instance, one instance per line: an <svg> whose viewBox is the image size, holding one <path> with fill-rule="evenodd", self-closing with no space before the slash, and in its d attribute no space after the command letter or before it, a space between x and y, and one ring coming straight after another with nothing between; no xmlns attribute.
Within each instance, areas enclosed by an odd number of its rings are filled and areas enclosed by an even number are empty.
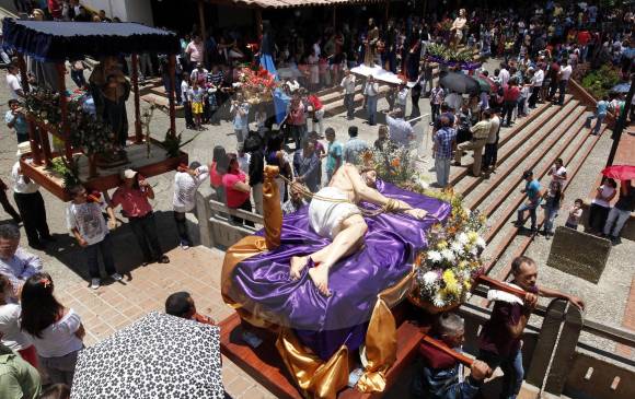
<svg viewBox="0 0 635 399"><path fill-rule="evenodd" d="M444 225L435 224L427 234L428 248L415 259L415 303L431 304L437 310L460 305L470 298L476 277L483 273L481 255L485 239L481 236L486 219L478 211L463 208L462 199L452 192L452 211Z"/></svg>

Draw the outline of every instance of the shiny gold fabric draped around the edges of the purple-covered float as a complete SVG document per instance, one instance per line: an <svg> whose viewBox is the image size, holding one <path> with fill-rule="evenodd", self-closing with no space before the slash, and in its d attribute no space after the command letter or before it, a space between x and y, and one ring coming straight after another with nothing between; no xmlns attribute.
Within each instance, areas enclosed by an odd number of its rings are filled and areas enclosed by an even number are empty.
<svg viewBox="0 0 635 399"><path fill-rule="evenodd" d="M267 313L259 304L249 300L232 282L233 271L241 261L280 245L282 212L275 181L277 174L277 167L265 167L263 185L265 237L244 237L226 253L221 272L222 297L243 320L256 327L278 330L276 348L307 397L334 399L348 384L350 369L346 345L342 345L328 361L324 362L309 348L302 345L292 330L279 327L282 320L278 315ZM396 325L391 308L406 296L413 277L414 270L397 284L378 294L366 335L368 366L357 385L363 392L383 391L385 388L385 372L396 359Z"/></svg>

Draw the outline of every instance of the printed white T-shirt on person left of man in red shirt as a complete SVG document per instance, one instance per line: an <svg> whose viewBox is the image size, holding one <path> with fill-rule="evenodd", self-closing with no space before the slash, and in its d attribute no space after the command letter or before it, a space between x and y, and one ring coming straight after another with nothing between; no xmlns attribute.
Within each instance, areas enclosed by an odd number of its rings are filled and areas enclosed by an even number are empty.
<svg viewBox="0 0 635 399"><path fill-rule="evenodd" d="M71 202L66 209L68 230L77 228L88 245L101 243L108 234L106 220L102 214L103 208L96 202Z"/></svg>

